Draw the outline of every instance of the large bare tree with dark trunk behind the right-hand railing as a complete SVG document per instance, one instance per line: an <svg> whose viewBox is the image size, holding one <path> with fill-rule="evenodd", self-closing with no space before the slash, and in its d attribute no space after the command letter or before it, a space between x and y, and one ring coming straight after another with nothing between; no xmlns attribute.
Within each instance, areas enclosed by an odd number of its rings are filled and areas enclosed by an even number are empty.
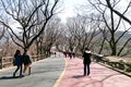
<svg viewBox="0 0 131 87"><path fill-rule="evenodd" d="M119 49L118 49L118 44L120 42L122 37L130 30L130 28L126 28L124 27L124 32L121 35L116 36L116 33L119 30L119 28L121 28L120 25L123 25L122 21L121 21L121 17L116 16L114 14L112 10L108 10L107 4L105 2L103 2L102 0L94 0L94 1L88 0L88 2L102 14L102 16L103 16L102 21L105 23L106 29L108 29L108 34L109 35L106 34L106 35L108 35L108 37L107 37L107 36L105 36L105 29L100 28L98 26L99 29L103 33L104 39L106 39L106 41L109 44L109 47L111 49L111 55L120 55L121 51L128 45L128 42L130 41L131 37L128 38L127 41L121 44L122 47L119 48ZM118 1L114 0L110 5L112 5L112 9L114 9L114 8L116 8L116 5L119 2L120 2L120 0L118 0ZM130 5L130 3L129 3L129 5ZM129 5L123 11L123 13L121 13L122 15L124 15L127 13L128 9L130 8ZM109 15L107 15L107 13Z"/></svg>

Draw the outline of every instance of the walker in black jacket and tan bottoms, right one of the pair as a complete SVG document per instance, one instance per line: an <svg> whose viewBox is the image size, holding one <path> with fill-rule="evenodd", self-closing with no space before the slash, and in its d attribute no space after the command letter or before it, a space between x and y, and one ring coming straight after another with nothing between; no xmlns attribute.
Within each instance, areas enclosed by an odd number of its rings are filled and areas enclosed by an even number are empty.
<svg viewBox="0 0 131 87"><path fill-rule="evenodd" d="M28 70L28 75L31 75L32 60L31 60L29 55L27 54L27 50L25 50L25 52L23 54L23 63L24 63L23 73L25 74L26 70Z"/></svg>

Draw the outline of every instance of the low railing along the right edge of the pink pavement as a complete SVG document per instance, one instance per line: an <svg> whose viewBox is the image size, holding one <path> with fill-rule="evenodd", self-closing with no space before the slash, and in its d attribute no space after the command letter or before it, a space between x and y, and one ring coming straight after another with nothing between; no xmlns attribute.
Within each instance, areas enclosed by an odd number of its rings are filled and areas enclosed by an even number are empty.
<svg viewBox="0 0 131 87"><path fill-rule="evenodd" d="M127 75L131 73L131 60L126 60L126 58L122 59L117 57L103 57L99 54L94 54L93 57L93 60L95 60L95 62L109 66Z"/></svg>

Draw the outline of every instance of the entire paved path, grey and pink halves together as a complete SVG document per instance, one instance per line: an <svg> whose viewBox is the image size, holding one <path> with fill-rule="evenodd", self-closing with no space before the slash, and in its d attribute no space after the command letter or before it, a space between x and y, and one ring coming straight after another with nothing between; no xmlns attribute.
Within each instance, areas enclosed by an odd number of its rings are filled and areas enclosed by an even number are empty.
<svg viewBox="0 0 131 87"><path fill-rule="evenodd" d="M131 78L92 62L83 76L82 59L51 57L33 63L32 74L13 78L15 67L0 71L0 87L131 87Z"/></svg>

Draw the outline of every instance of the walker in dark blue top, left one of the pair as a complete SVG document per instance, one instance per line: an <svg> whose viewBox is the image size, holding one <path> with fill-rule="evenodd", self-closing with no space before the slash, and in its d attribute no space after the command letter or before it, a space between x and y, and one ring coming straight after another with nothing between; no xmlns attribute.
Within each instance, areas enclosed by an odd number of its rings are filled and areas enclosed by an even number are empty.
<svg viewBox="0 0 131 87"><path fill-rule="evenodd" d="M16 65L16 70L13 73L13 77L15 77L16 72L20 70L20 76L22 75L22 64L23 64L23 60L22 60L22 55L21 55L21 51L16 50L15 54L14 54L14 59L13 59L13 63L14 65Z"/></svg>

